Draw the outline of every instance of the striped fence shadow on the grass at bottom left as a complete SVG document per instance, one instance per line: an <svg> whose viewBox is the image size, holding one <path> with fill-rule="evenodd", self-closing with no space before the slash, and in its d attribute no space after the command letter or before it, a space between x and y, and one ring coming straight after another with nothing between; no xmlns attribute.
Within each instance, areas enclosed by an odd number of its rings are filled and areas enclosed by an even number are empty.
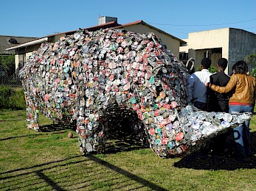
<svg viewBox="0 0 256 191"><path fill-rule="evenodd" d="M113 190L166 190L91 154L9 170L0 173L0 181L0 190L94 190L95 185L100 184L97 188L101 188L104 182Z"/></svg>

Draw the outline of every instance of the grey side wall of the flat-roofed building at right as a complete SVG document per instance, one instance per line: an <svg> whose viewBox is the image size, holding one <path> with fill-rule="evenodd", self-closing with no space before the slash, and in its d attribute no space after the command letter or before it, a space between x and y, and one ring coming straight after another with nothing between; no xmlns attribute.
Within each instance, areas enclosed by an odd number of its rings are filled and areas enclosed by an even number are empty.
<svg viewBox="0 0 256 191"><path fill-rule="evenodd" d="M232 65L239 60L244 60L246 55L256 53L256 35L241 29L229 30L229 74Z"/></svg>

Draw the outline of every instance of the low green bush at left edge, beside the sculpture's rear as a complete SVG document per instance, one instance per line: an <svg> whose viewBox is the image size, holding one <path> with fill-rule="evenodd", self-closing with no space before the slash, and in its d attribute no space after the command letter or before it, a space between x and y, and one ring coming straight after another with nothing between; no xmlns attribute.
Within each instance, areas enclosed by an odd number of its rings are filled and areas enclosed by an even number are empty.
<svg viewBox="0 0 256 191"><path fill-rule="evenodd" d="M26 102L22 88L0 86L0 109L24 110Z"/></svg>

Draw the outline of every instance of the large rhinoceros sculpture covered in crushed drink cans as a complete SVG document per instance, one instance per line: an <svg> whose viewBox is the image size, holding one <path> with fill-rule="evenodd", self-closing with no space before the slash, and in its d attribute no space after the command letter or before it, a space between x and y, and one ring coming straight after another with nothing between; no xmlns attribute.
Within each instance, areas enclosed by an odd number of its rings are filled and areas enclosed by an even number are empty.
<svg viewBox="0 0 256 191"><path fill-rule="evenodd" d="M157 156L198 151L210 137L250 114L203 112L187 100L189 74L153 33L78 30L43 43L19 73L27 127L39 129L38 112L75 126L83 153L103 151L108 113L132 112Z"/></svg>

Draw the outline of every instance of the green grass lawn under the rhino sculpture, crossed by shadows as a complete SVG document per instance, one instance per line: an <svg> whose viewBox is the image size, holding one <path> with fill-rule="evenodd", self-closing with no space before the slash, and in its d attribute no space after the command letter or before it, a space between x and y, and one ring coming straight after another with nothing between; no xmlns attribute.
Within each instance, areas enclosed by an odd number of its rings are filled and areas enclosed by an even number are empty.
<svg viewBox="0 0 256 191"><path fill-rule="evenodd" d="M160 159L123 134L106 154L80 154L77 135L52 126L26 128L25 111L0 111L0 190L256 190L256 117L245 162L199 152Z"/></svg>

